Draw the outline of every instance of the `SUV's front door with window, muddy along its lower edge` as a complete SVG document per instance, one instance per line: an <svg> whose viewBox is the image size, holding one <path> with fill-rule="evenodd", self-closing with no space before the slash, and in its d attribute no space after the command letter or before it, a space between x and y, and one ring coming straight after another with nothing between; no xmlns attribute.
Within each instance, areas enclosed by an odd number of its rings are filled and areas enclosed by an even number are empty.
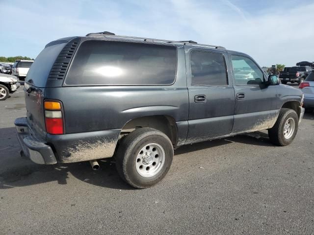
<svg viewBox="0 0 314 235"><path fill-rule="evenodd" d="M276 121L277 88L268 86L260 67L249 57L230 54L235 88L232 133L267 129Z"/></svg>

